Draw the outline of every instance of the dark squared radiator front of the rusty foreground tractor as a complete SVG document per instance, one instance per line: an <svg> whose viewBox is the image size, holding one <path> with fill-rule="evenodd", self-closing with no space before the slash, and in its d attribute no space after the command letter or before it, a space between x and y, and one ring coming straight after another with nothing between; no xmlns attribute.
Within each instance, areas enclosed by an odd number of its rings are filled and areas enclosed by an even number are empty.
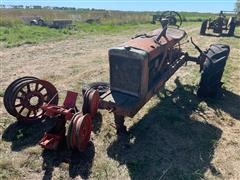
<svg viewBox="0 0 240 180"><path fill-rule="evenodd" d="M109 51L110 89L143 96L148 87L148 56L142 50L115 48Z"/></svg>

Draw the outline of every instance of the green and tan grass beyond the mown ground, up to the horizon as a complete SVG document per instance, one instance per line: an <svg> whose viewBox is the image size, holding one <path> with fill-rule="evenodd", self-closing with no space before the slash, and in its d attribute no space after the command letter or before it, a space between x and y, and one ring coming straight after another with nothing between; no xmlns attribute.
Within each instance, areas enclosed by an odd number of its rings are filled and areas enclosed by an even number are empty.
<svg viewBox="0 0 240 180"><path fill-rule="evenodd" d="M81 32L111 33L134 28L133 25L147 24L152 21L153 12L121 12L104 10L64 11L64 10L24 10L1 9L0 11L0 48L14 47L22 44L36 44L45 40L59 40ZM47 27L29 26L24 23L26 17L40 16L44 20L72 19L73 28L49 29ZM181 13L184 21L201 21L214 14L210 13ZM85 23L88 19L100 19L98 23Z"/></svg>

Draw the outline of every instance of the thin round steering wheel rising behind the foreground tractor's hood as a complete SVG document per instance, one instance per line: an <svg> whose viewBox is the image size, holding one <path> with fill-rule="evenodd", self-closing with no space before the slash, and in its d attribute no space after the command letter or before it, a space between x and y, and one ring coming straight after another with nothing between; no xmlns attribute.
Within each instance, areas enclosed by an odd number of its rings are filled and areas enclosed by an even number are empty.
<svg viewBox="0 0 240 180"><path fill-rule="evenodd" d="M182 25L182 17L175 11L164 11L160 15L160 23L163 28L166 26L177 26L178 28Z"/></svg>

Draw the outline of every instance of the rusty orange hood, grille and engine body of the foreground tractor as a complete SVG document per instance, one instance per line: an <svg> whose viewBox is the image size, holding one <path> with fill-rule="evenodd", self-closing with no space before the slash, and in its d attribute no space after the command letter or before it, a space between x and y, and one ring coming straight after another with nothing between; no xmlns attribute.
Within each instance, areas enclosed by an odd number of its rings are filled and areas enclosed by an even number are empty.
<svg viewBox="0 0 240 180"><path fill-rule="evenodd" d="M157 29L109 50L110 89L144 97L154 81L181 55L174 46L186 36L177 28Z"/></svg>

